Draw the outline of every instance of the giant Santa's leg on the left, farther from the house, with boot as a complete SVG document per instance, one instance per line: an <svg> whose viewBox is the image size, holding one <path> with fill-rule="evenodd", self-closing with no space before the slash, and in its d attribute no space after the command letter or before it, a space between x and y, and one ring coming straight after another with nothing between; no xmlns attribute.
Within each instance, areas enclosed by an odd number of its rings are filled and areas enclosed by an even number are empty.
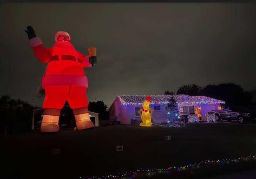
<svg viewBox="0 0 256 179"><path fill-rule="evenodd" d="M69 93L69 86L45 87L43 119L41 132L58 132L60 110L63 108Z"/></svg>

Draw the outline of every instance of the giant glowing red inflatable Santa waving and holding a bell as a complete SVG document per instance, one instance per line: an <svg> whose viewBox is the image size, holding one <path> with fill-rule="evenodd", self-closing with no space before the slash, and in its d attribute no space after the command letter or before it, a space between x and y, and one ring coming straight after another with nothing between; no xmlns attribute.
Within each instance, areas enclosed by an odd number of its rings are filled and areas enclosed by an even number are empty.
<svg viewBox="0 0 256 179"><path fill-rule="evenodd" d="M25 32L35 56L42 63L48 63L42 78L45 99L41 132L59 131L60 110L66 100L73 109L78 130L94 127L89 117L86 97L88 83L83 67L91 67L97 63L96 48L89 48L90 55L84 56L75 50L70 43L69 34L63 31L56 33L53 47L45 48L31 26L27 26Z"/></svg>

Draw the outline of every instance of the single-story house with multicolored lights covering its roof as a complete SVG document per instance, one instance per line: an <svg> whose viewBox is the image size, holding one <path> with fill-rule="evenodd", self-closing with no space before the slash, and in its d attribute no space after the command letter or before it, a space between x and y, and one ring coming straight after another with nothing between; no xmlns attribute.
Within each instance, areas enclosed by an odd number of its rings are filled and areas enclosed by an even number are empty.
<svg viewBox="0 0 256 179"><path fill-rule="evenodd" d="M188 95L123 95L116 96L116 99L109 108L110 120L120 122L120 124L131 124L133 120L140 121L138 110L142 108L146 97L150 96L150 108L154 109L152 123L167 122L167 111L165 109L169 99L173 97L178 107L178 115L184 116L193 114L196 107L201 108L201 114L204 116L211 110L218 110L224 101L205 96Z"/></svg>

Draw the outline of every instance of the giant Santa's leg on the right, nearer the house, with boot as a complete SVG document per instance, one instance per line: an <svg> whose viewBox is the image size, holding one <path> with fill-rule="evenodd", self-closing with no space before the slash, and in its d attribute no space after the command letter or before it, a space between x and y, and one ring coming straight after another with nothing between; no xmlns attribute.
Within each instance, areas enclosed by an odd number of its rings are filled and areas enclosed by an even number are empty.
<svg viewBox="0 0 256 179"><path fill-rule="evenodd" d="M86 87L71 86L67 100L75 115L76 128L83 130L94 127L89 117Z"/></svg>

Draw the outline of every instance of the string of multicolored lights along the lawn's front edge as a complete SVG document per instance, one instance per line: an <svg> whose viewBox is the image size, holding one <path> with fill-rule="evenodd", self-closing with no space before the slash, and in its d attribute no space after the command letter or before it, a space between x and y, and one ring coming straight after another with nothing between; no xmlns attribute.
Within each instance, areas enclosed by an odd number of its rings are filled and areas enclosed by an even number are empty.
<svg viewBox="0 0 256 179"><path fill-rule="evenodd" d="M229 164L229 163L236 163L241 160L247 161L248 159L254 159L256 160L256 155L248 155L246 157L240 157L236 159L220 159L220 160L202 160L201 162L195 162L191 164L187 164L185 166L170 166L167 168L153 168L153 169L143 169L140 168L139 170L132 171L130 170L129 172L125 173L119 173L119 174L109 174L109 175L104 175L101 177L98 176L93 176L91 178L86 178L86 179L106 179L106 178L118 178L118 179L133 179L136 177L145 177L145 176L152 176L154 174L169 174L171 170L176 170L176 171L184 171L187 168L199 168L200 166L207 165L207 164L216 164L216 165L223 165L223 164ZM79 177L82 179L82 177ZM84 178L83 178L84 179Z"/></svg>

